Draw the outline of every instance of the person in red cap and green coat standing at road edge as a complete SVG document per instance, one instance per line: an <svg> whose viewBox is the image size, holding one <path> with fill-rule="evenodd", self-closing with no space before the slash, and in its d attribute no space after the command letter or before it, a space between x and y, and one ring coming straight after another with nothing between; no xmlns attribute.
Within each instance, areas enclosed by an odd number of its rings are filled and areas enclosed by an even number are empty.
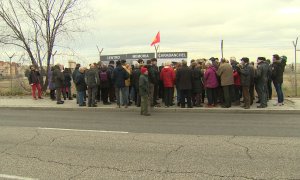
<svg viewBox="0 0 300 180"><path fill-rule="evenodd" d="M141 68L141 76L139 79L139 94L141 96L141 115L150 116L149 109L149 78L148 69L145 67Z"/></svg>

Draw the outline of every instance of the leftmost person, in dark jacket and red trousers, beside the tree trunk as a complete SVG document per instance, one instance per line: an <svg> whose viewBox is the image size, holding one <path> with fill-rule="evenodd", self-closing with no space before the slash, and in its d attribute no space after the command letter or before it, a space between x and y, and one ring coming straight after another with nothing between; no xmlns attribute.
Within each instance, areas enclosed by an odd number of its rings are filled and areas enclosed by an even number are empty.
<svg viewBox="0 0 300 180"><path fill-rule="evenodd" d="M42 88L40 84L40 72L32 65L30 66L30 73L28 75L28 81L32 90L32 98L37 100L36 98L36 90L38 90L38 98L42 98Z"/></svg>

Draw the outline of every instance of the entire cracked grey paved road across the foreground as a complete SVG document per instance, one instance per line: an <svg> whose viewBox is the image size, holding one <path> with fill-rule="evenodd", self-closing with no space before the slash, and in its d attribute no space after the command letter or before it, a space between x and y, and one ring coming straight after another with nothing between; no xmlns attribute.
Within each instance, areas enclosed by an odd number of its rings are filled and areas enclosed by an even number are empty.
<svg viewBox="0 0 300 180"><path fill-rule="evenodd" d="M0 179L300 179L299 130L297 115L0 109Z"/></svg>

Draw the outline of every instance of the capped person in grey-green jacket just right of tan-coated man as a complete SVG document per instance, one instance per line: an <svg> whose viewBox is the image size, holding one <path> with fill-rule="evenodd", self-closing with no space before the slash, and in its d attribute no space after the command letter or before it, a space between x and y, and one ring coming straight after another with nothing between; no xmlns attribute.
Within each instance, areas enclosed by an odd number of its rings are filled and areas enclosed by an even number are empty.
<svg viewBox="0 0 300 180"><path fill-rule="evenodd" d="M245 109L250 109L250 91L249 87L251 84L251 75L249 68L249 58L244 57L241 59L241 64L238 65L238 71L241 75L241 86L243 90L243 99L244 105L242 106Z"/></svg>

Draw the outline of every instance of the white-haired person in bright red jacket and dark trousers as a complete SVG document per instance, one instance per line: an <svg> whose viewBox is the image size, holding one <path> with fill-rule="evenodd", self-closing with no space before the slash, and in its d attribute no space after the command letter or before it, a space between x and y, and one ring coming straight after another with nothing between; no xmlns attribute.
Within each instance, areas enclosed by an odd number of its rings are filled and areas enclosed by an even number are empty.
<svg viewBox="0 0 300 180"><path fill-rule="evenodd" d="M170 107L173 105L175 77L175 71L171 67L171 63L166 62L165 67L161 70L160 73L160 79L164 84L164 101L166 107Z"/></svg>

